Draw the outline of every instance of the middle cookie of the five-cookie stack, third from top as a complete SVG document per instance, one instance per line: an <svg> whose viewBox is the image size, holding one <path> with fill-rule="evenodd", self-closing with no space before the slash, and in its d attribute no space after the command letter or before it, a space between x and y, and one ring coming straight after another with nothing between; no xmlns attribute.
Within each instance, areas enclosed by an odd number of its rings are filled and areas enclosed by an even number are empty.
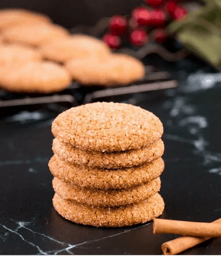
<svg viewBox="0 0 221 256"><path fill-rule="evenodd" d="M49 169L53 176L82 188L91 189L128 189L150 180L156 179L164 169L162 158L150 163L120 169L88 168L75 166L61 161L56 155L49 161Z"/></svg>

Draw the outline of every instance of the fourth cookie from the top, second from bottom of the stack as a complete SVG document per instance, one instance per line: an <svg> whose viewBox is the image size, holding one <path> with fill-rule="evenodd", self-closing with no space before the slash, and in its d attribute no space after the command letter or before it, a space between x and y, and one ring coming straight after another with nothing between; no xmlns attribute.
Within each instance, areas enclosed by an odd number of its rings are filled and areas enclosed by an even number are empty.
<svg viewBox="0 0 221 256"><path fill-rule="evenodd" d="M54 191L58 196L81 204L91 206L113 207L137 203L152 197L160 191L160 178L148 183L123 190L84 189L65 183L54 177L52 180Z"/></svg>

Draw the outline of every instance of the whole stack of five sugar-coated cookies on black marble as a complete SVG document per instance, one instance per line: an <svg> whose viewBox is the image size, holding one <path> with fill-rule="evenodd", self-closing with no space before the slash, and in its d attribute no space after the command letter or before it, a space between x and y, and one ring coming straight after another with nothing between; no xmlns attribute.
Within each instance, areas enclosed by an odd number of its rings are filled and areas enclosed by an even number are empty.
<svg viewBox="0 0 221 256"><path fill-rule="evenodd" d="M163 125L140 107L97 102L52 123L53 206L68 220L97 227L144 223L164 209Z"/></svg>

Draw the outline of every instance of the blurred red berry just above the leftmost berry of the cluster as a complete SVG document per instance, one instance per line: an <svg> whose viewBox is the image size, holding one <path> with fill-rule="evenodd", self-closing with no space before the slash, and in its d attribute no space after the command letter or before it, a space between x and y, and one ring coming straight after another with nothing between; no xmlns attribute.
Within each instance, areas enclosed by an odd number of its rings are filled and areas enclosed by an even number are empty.
<svg viewBox="0 0 221 256"><path fill-rule="evenodd" d="M127 29L127 20L121 15L115 15L110 19L108 27L113 35L123 34Z"/></svg>

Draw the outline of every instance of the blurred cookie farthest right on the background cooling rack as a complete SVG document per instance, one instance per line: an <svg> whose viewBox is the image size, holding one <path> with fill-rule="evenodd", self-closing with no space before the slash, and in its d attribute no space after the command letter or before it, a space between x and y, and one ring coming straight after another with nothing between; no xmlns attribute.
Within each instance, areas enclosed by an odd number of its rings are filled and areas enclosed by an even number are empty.
<svg viewBox="0 0 221 256"><path fill-rule="evenodd" d="M86 85L127 85L145 74L142 62L125 54L112 54L103 61L97 56L71 59L66 68L75 81Z"/></svg>

